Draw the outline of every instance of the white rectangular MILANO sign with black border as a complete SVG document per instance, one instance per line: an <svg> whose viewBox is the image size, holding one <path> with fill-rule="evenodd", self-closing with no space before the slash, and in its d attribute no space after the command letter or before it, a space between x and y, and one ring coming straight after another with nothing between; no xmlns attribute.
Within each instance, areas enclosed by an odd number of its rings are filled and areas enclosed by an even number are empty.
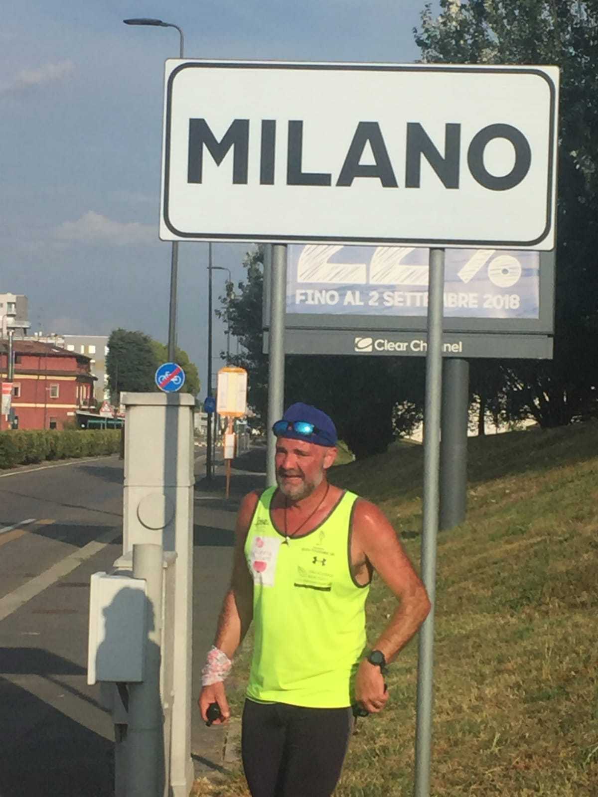
<svg viewBox="0 0 598 797"><path fill-rule="evenodd" d="M160 238L553 249L558 80L169 60Z"/></svg>

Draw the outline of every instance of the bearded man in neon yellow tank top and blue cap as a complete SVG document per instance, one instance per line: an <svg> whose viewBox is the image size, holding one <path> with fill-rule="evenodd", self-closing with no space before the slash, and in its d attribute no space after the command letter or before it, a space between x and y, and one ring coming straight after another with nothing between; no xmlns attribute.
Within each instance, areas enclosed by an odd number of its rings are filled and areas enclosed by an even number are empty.
<svg viewBox="0 0 598 797"><path fill-rule="evenodd" d="M273 426L277 487L249 493L237 519L233 575L203 669L202 716L230 709L224 679L254 622L242 760L254 797L329 797L352 731L352 706L379 713L384 668L430 611L423 583L383 513L329 484L336 428L301 402ZM399 606L366 646L376 570Z"/></svg>

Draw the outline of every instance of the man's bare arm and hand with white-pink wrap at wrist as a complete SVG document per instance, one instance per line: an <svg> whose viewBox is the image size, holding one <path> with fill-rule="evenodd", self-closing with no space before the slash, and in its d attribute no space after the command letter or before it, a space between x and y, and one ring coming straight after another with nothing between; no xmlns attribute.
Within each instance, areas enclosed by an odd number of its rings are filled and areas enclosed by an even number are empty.
<svg viewBox="0 0 598 797"><path fill-rule="evenodd" d="M234 652L245 638L254 613L254 582L247 569L245 541L257 503L258 493L249 493L243 499L238 512L233 573L229 591L222 602L222 609L218 617L218 629L214 639L214 646L222 650L222 653L225 653L230 659L233 658ZM214 724L226 722L230 717L230 709L226 701L223 681L204 686L199 695L198 705L204 720L207 720L206 712L210 703L218 703L222 714L222 720L215 720Z"/></svg>

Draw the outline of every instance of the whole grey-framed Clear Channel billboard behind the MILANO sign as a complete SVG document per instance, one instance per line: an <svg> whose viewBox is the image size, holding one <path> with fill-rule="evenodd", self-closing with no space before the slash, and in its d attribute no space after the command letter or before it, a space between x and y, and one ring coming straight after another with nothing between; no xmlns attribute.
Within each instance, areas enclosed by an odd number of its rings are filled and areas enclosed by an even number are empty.
<svg viewBox="0 0 598 797"><path fill-rule="evenodd" d="M285 351L423 356L428 249L287 247ZM269 264L263 327L267 351ZM447 249L443 354L549 359L554 255Z"/></svg>

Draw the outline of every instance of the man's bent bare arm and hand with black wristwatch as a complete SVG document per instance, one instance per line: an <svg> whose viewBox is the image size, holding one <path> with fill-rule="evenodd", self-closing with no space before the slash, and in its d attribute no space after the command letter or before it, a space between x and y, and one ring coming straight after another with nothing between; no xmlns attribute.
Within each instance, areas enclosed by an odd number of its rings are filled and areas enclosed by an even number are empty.
<svg viewBox="0 0 598 797"><path fill-rule="evenodd" d="M399 599L373 650L391 662L419 629L431 609L426 588L384 514L368 501L358 501L353 515L353 535L364 556ZM361 662L356 677L356 697L369 712L380 712L388 700L380 667Z"/></svg>

